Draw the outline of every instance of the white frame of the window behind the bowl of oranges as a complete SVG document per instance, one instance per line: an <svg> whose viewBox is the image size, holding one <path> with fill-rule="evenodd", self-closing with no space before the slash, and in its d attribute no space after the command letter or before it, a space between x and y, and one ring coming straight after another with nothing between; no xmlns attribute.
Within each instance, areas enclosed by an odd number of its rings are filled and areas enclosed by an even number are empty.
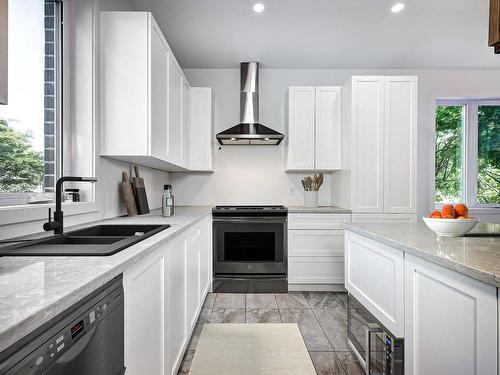
<svg viewBox="0 0 500 375"><path fill-rule="evenodd" d="M462 201L472 209L500 210L500 203L480 204L477 201L477 158L478 158L478 108L481 105L500 106L500 98L439 98L436 100L438 106L461 106L463 107L462 121ZM434 110L435 119L436 110ZM434 127L435 129L435 127ZM436 137L434 137L435 143ZM434 148L434 179L435 174L435 148ZM435 181L435 180L434 180ZM434 183L434 189L436 184ZM434 206L440 209L443 202L436 202L436 192L434 191Z"/></svg>

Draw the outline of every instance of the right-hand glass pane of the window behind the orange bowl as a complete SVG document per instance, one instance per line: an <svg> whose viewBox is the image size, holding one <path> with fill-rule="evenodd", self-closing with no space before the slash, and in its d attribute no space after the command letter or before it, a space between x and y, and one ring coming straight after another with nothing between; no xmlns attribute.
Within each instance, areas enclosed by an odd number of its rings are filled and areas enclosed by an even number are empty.
<svg viewBox="0 0 500 375"><path fill-rule="evenodd" d="M500 204L500 106L478 106L477 203Z"/></svg>

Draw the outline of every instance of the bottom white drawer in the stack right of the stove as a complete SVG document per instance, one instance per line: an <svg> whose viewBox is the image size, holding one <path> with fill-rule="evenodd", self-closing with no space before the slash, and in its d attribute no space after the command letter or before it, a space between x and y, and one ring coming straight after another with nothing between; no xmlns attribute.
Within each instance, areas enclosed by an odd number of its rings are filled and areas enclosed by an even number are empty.
<svg viewBox="0 0 500 375"><path fill-rule="evenodd" d="M344 257L289 257L289 284L344 284Z"/></svg>

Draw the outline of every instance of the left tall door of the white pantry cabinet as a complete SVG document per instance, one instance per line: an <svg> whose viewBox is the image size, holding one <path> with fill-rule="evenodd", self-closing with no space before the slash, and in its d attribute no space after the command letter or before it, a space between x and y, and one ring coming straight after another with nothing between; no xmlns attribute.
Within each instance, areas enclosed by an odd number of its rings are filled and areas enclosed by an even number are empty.
<svg viewBox="0 0 500 375"><path fill-rule="evenodd" d="M384 77L352 78L352 210L383 212Z"/></svg>

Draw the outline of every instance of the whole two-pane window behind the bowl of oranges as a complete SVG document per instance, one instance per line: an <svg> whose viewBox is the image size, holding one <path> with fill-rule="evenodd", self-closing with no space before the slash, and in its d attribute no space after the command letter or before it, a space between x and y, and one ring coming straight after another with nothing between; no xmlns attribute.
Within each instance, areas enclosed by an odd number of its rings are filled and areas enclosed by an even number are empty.
<svg viewBox="0 0 500 375"><path fill-rule="evenodd" d="M438 100L435 201L500 207L500 100Z"/></svg>

